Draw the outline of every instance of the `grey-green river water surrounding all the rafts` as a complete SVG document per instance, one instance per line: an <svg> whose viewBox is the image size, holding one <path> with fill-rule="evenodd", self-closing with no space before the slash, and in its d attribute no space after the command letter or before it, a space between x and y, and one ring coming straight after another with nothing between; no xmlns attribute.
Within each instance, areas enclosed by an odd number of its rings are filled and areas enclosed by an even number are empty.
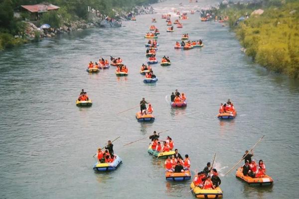
<svg viewBox="0 0 299 199"><path fill-rule="evenodd" d="M240 52L240 45L227 27L201 22L199 13L188 15L182 29L166 33L160 14L215 3L178 0L153 5L157 14L137 16L122 28L86 29L44 39L0 53L0 198L73 199L194 198L189 182L166 182L163 160L147 153L153 130L172 129L179 152L189 154L192 173L204 168L216 153L216 168L222 175L226 199L297 198L299 149L299 82L273 74ZM157 57L169 56L170 67L153 66L155 85L145 85L139 74L146 63L151 17L161 31ZM174 50L182 33L202 39L204 47ZM116 77L115 68L88 74L91 60L110 55L122 57L128 77ZM75 105L81 89L93 100L90 108ZM187 107L170 107L175 89L187 96ZM156 117L139 123L138 108L145 97ZM219 103L231 99L238 115L231 121L215 118ZM275 183L270 188L252 188L235 178L235 170L223 177L262 135L254 158L263 159ZM92 155L107 140L114 143L123 164L111 173L95 173Z"/></svg>

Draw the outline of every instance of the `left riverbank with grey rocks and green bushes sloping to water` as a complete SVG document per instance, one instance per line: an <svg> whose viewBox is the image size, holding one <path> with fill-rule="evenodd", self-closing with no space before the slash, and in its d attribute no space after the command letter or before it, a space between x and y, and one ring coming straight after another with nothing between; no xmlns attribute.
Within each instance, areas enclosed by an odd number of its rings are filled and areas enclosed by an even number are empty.
<svg viewBox="0 0 299 199"><path fill-rule="evenodd" d="M106 7L103 8L96 4L99 0L93 1L93 6L86 4L84 5L86 9L77 7L75 11L71 11L70 5L66 2L62 5L57 4L61 6L58 11L45 12L40 20L35 22L27 21L26 17L15 18L13 16L13 7L19 6L17 3L13 4L9 1L1 3L0 10L7 11L0 16L0 19L7 15L5 18L7 22L0 24L4 27L0 29L0 51L30 41L39 41L45 37L54 37L58 34L80 31L90 27L121 27L121 21L129 20L130 15L153 13L149 3L157 2L157 0L134 0L124 6L125 1L120 0L118 5L112 6L111 2L107 1L106 4L103 2L102 5ZM76 6L80 6L80 4ZM50 24L51 27L40 29L38 26L42 23Z"/></svg>

